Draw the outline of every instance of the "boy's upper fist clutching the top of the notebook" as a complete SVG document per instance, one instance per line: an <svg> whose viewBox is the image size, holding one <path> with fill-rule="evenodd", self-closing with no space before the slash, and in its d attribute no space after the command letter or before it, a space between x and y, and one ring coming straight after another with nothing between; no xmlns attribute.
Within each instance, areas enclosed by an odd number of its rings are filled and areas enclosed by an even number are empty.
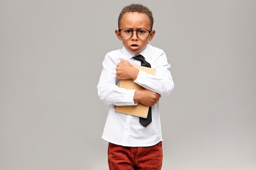
<svg viewBox="0 0 256 170"><path fill-rule="evenodd" d="M117 64L117 79L136 79L139 70L134 68L127 60L121 60Z"/></svg>

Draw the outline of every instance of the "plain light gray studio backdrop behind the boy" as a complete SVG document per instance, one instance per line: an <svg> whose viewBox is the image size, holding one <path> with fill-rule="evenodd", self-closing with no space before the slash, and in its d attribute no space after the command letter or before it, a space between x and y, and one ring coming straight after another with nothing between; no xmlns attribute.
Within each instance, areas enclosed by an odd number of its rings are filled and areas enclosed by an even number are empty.
<svg viewBox="0 0 256 170"><path fill-rule="evenodd" d="M255 0L0 0L1 170L108 170L96 86L132 2L175 82L162 169L256 170Z"/></svg>

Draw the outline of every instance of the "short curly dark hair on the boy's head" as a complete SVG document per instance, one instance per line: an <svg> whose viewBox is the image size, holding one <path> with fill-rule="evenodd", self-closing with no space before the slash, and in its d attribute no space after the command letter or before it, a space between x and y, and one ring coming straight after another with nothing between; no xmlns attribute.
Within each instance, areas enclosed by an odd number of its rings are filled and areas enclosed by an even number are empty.
<svg viewBox="0 0 256 170"><path fill-rule="evenodd" d="M119 14L119 18L118 18L118 27L120 26L120 22L121 19L123 18L125 13L128 12L139 12L139 13L145 13L148 16L149 22L150 22L150 29L153 28L153 22L154 22L154 18L153 18L153 14L152 12L148 9L148 7L145 7L142 4L130 4L126 7L124 7L121 11L121 13Z"/></svg>

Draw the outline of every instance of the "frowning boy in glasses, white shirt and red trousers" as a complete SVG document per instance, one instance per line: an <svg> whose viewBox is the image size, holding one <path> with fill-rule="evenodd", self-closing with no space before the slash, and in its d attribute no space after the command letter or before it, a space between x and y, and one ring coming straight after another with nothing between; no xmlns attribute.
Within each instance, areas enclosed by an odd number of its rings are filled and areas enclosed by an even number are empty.
<svg viewBox="0 0 256 170"><path fill-rule="evenodd" d="M164 51L151 46L155 35L152 12L141 4L124 7L118 18L117 38L122 49L105 56L99 79L98 95L110 110L102 138L109 142L108 165L110 170L161 170L162 131L159 116L159 98L170 95L174 84ZM140 57L137 57L137 56ZM148 64L150 63L150 64ZM155 75L132 67L132 64L156 69ZM117 86L119 79L133 79L143 90L126 90ZM151 106L149 121L115 111L115 106ZM148 118L147 118L148 119ZM140 122L141 121L141 122Z"/></svg>

